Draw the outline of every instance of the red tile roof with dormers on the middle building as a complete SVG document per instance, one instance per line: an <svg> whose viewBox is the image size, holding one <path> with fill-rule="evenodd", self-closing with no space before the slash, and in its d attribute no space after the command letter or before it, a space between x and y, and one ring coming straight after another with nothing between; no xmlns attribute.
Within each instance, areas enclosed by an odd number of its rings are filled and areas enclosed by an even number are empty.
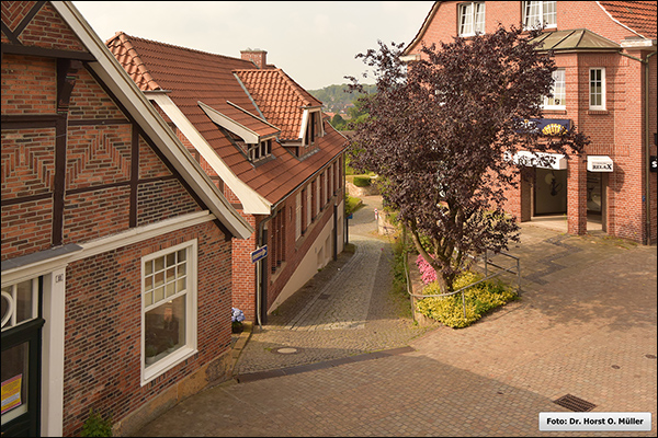
<svg viewBox="0 0 658 438"><path fill-rule="evenodd" d="M276 159L254 166L208 118L198 102L235 117L236 122L240 120L260 135L273 129L258 120L264 116L269 124L282 130L282 139L298 138L302 106L320 106L321 103L282 70L253 69L253 64L248 60L143 39L125 33L117 33L106 45L143 91L169 91L169 97L231 171L272 204L292 193L345 147L345 138L325 123L326 135L316 140L317 152L299 160L274 141L272 153ZM295 117L295 114L298 116Z"/></svg>

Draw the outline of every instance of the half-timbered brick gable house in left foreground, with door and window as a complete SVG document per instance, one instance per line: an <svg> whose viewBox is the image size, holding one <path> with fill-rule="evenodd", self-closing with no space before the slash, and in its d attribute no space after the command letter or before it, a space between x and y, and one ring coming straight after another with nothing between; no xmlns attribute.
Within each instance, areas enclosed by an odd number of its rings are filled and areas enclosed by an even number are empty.
<svg viewBox="0 0 658 438"><path fill-rule="evenodd" d="M230 376L253 229L70 2L2 2L2 436L129 434Z"/></svg>

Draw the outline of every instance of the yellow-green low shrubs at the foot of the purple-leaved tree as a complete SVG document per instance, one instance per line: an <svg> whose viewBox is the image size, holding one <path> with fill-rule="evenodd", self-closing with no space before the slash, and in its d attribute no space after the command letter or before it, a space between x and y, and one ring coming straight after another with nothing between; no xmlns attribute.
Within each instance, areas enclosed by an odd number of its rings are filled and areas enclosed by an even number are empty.
<svg viewBox="0 0 658 438"><path fill-rule="evenodd" d="M484 278L476 273L465 273L461 275L454 284L455 290L472 285ZM433 281L422 290L423 295L441 293L439 284ZM483 281L464 292L466 302L466 318L464 318L464 307L462 304L462 293L455 293L450 297L429 297L420 300L416 306L420 313L441 322L453 328L463 328L473 324L487 312L502 307L510 301L519 299L517 292L500 280Z"/></svg>

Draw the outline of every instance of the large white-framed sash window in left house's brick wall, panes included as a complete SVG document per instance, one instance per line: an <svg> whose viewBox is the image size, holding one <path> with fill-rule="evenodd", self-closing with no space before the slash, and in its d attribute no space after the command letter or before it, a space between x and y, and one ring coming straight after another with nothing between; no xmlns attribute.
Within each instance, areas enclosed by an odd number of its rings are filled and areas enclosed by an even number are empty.
<svg viewBox="0 0 658 438"><path fill-rule="evenodd" d="M141 257L144 380L196 350L196 240Z"/></svg>

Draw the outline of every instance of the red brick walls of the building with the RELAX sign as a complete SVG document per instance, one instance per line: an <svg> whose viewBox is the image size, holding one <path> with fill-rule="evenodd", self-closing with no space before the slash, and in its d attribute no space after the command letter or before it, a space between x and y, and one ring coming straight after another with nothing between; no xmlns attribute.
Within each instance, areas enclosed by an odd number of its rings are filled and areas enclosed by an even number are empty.
<svg viewBox="0 0 658 438"><path fill-rule="evenodd" d="M498 23L506 26L521 23L521 1L486 1L485 32L492 32ZM545 118L570 119L579 131L591 139L586 154L572 159L568 163L567 218L569 233L583 234L588 221L588 155L608 155L614 162L612 173L602 173L602 211L601 221L605 232L619 238L640 243L655 243L657 238L657 193L656 173L648 174L648 155L656 155L654 136L656 132L656 7L638 5L651 11L635 15L637 22L646 22L643 26L653 34L633 31L633 25L625 25L613 20L603 8L608 2L593 1L557 1L557 27L549 31L567 31L586 28L597 35L620 45L619 50L578 49L556 51L555 61L558 68L565 69L566 108L544 111ZM610 2L624 3L624 2ZM458 32L457 14L461 2L436 2L427 18L416 39L405 49L405 54L416 54L422 44L450 42ZM619 4L616 4L619 7ZM623 7L623 4L622 4ZM628 10L631 11L631 10ZM633 14L634 12L629 12ZM651 24L653 23L653 24ZM653 31L651 31L653 28ZM648 39L647 39L648 38ZM653 38L653 39L651 39ZM633 42L644 41L648 45L631 47ZM634 59L635 58L635 59ZM647 60L648 59L648 60ZM640 61L642 60L642 61ZM644 62L643 62L644 61ZM648 64L648 108L646 65ZM589 108L589 71L590 68L605 69L605 110ZM647 125L648 137L647 138ZM648 148L647 148L648 143ZM648 149L648 153L647 153ZM647 185L649 187L647 199ZM534 216L533 187L522 184L518 189L508 192L507 209L522 221ZM649 207L647 208L647 203ZM647 220L647 210L649 218Z"/></svg>

